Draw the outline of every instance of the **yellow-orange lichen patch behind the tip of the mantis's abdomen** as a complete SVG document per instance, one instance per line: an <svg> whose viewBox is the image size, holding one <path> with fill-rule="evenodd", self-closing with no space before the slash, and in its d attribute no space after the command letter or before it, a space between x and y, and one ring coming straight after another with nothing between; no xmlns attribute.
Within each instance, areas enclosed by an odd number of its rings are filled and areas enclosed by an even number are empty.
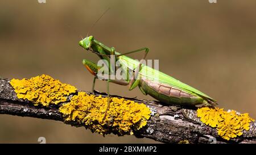
<svg viewBox="0 0 256 155"><path fill-rule="evenodd" d="M231 138L241 136L243 130L250 129L250 122L254 119L249 117L249 114L238 114L238 112L224 111L223 108L203 107L197 110L197 116L201 118L201 122L217 127L218 135L223 139L230 140Z"/></svg>

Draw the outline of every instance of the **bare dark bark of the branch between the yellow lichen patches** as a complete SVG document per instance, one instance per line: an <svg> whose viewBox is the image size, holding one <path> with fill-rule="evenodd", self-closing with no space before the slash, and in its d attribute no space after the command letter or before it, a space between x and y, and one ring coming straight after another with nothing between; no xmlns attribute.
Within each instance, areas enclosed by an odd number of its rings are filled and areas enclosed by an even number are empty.
<svg viewBox="0 0 256 155"><path fill-rule="evenodd" d="M85 93L90 94L89 92ZM70 99L74 95L77 95L77 92L70 93L68 100L60 102L60 104L47 103L47 107L35 106L35 103L17 97L14 88L10 85L10 79L0 78L0 114L59 120L76 127L86 127L81 122L72 121L72 118L71 121L67 121L67 118L64 118L63 113L59 110L63 104L70 103ZM99 95L106 97L105 93L96 92L96 97ZM256 143L255 123L250 123L248 131L243 130L241 136L225 140L219 136L217 128L205 125L200 121L195 109L164 106L153 100L125 99L144 103L151 110L151 117L147 120L146 125L133 131L137 137L147 137L163 143Z"/></svg>

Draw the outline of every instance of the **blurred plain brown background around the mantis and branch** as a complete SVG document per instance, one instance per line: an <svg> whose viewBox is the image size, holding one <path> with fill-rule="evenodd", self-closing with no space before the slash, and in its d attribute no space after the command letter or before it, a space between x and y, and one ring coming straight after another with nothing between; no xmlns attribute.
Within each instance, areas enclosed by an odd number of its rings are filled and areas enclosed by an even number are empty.
<svg viewBox="0 0 256 155"><path fill-rule="evenodd" d="M126 52L149 47L162 72L218 100L219 107L256 118L256 1L63 1L0 2L0 76L48 74L90 91L92 75L82 58L98 57L79 47L93 35ZM141 58L142 54L131 55ZM106 91L97 81L96 89ZM151 99L139 89L112 84L111 94ZM52 120L0 115L0 143L155 143L134 136L102 137Z"/></svg>

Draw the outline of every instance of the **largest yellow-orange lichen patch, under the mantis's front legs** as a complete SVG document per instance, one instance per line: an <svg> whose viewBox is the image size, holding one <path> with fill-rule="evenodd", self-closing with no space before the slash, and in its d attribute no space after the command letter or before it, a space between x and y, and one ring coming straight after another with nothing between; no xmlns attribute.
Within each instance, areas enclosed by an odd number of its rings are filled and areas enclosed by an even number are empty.
<svg viewBox="0 0 256 155"><path fill-rule="evenodd" d="M78 95L72 97L70 103L60 107L60 112L64 114L67 122L79 122L92 132L101 135L111 132L118 133L118 135L133 135L133 129L138 130L144 127L151 114L145 104L138 104L123 98L111 98L110 108L104 119L107 106L108 98L79 92Z"/></svg>

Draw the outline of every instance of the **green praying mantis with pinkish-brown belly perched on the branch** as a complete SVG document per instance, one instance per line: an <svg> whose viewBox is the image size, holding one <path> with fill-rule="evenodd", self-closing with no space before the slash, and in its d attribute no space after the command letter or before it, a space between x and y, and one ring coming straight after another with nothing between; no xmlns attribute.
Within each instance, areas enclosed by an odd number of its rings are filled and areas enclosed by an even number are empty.
<svg viewBox="0 0 256 155"><path fill-rule="evenodd" d="M150 95L151 97L159 100L160 102L166 104L176 104L180 106L215 106L217 104L216 100L210 98L208 95L202 93L201 91L183 83L179 80L168 76L159 70L155 70L147 65L142 64L141 61L134 60L133 58L127 57L130 53L143 52L144 55L142 60L146 58L149 52L148 48L141 48L135 51L119 53L115 51L115 48L109 48L106 45L95 40L93 36L87 36L85 39L79 41L79 45L86 49L96 53L102 60L105 60L105 64L108 66L110 74L117 74L115 67L110 66L111 57L113 56L114 62L119 62L119 69L121 69L124 77L129 77L129 70L132 71L131 78L125 78L123 80L105 78L103 80L107 81L107 93L108 93L108 108L110 104L109 98L109 82L116 83L118 85L128 86L129 90L133 90L135 87L139 87L144 95ZM94 92L94 86L96 79L98 78L98 72L102 66L98 66L92 61L82 60L82 64L85 65L86 69L93 74L93 86L92 92ZM127 66L127 64L132 64ZM108 108L105 111L108 111Z"/></svg>

